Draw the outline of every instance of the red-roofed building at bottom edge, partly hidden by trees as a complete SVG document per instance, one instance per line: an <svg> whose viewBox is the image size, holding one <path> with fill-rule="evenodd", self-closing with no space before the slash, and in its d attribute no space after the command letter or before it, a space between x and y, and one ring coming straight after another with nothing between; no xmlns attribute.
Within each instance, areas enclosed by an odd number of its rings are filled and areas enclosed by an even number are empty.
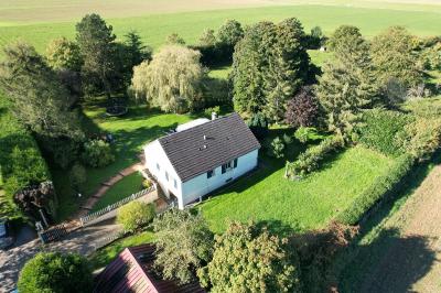
<svg viewBox="0 0 441 293"><path fill-rule="evenodd" d="M198 282L180 284L178 281L163 280L153 270L155 259L153 245L141 245L122 250L95 279L94 293L204 293Z"/></svg>

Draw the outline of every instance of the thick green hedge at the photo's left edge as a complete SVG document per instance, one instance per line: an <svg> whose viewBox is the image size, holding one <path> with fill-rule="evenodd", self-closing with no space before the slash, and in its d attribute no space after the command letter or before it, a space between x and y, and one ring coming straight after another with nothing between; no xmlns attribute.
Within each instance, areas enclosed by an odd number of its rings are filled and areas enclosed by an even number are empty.
<svg viewBox="0 0 441 293"><path fill-rule="evenodd" d="M29 131L14 119L0 93L0 215L20 218L13 195L22 187L50 180L46 162Z"/></svg>

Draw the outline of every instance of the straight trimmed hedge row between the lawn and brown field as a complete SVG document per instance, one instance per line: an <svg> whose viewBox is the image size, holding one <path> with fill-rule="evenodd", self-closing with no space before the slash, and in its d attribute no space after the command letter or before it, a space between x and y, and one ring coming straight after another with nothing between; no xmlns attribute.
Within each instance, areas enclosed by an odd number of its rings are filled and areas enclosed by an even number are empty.
<svg viewBox="0 0 441 293"><path fill-rule="evenodd" d="M337 215L336 220L346 225L356 225L374 206L394 193L402 178L411 171L416 159L410 154L397 158L388 172L378 176L374 183L362 193L353 204Z"/></svg>

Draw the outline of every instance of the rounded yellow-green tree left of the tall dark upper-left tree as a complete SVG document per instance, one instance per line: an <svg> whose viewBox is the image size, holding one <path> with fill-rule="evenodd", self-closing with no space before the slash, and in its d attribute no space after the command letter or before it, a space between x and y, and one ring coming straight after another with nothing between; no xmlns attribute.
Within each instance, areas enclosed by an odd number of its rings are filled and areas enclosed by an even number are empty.
<svg viewBox="0 0 441 293"><path fill-rule="evenodd" d="M78 45L66 37L54 39L46 47L49 65L54 69L79 72L83 58Z"/></svg>

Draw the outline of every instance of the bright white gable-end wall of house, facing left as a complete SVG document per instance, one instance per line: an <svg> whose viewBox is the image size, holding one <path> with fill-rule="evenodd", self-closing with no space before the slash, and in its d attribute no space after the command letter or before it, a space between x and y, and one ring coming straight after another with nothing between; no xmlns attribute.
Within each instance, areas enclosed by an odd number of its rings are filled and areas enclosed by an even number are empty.
<svg viewBox="0 0 441 293"><path fill-rule="evenodd" d="M169 158L158 140L144 146L146 167L157 178L159 185L166 196L172 192L179 199L180 206L182 205L182 183L176 172L174 171ZM160 170L157 169L157 163ZM165 177L165 171L169 173L169 181ZM174 187L174 180L176 180L176 187Z"/></svg>

